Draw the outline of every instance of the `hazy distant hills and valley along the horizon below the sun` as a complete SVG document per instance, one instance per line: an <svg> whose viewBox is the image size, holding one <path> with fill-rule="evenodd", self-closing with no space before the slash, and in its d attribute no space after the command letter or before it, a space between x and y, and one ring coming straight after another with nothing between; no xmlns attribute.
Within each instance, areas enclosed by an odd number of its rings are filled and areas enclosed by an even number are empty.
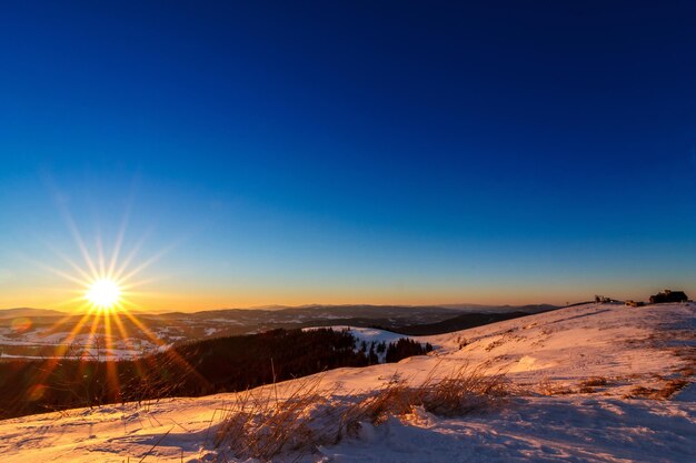
<svg viewBox="0 0 696 463"><path fill-rule="evenodd" d="M378 326L402 334L439 334L553 309L556 308L315 304L192 313L116 313L108 319L97 313L86 316L84 313L56 310L9 309L0 310L0 358L44 358L58 352L61 345L62 349L68 345L70 349L76 345L83 349L107 338L110 358L132 358L160 345L310 326Z"/></svg>

